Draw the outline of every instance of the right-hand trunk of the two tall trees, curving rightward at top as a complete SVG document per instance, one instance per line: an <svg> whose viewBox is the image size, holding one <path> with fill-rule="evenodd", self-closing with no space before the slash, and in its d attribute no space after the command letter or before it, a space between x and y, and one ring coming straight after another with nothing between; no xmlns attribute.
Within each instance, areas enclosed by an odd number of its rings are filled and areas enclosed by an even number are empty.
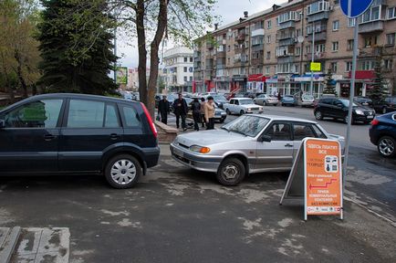
<svg viewBox="0 0 396 263"><path fill-rule="evenodd" d="M158 25L157 31L155 32L155 37L151 42L150 49L150 79L148 87L148 100L147 107L150 111L151 118L154 120L155 112L155 92L157 89L157 79L158 79L158 65L160 64L160 58L158 58L158 50L162 41L163 34L165 33L166 23L168 20L168 1L160 0L160 11L158 14Z"/></svg>

